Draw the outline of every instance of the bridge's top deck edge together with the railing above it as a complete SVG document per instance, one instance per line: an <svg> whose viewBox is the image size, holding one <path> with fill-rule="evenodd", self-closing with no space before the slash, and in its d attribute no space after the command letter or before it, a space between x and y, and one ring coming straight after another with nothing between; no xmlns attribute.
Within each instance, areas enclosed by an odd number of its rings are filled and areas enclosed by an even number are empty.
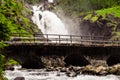
<svg viewBox="0 0 120 80"><path fill-rule="evenodd" d="M108 40L105 37L39 34L37 37L12 37L6 41L10 45L53 45L53 46L120 46L120 41Z"/></svg>

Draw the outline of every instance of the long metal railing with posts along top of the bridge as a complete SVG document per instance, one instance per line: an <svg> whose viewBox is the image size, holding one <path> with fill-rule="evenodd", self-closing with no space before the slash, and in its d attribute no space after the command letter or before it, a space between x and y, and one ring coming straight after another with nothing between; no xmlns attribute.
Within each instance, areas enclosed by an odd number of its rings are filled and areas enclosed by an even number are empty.
<svg viewBox="0 0 120 80"><path fill-rule="evenodd" d="M111 41L104 36L80 36L80 35L59 35L59 34L33 34L32 36L15 37L10 43L55 43L55 44L84 44L84 45L120 45L120 41Z"/></svg>

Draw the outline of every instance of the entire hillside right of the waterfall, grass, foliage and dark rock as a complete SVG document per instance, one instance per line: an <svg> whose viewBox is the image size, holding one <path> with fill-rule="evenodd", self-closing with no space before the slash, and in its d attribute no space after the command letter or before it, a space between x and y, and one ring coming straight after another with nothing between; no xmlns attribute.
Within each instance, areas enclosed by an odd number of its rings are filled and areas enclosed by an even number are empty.
<svg viewBox="0 0 120 80"><path fill-rule="evenodd" d="M66 16L79 20L82 35L120 39L120 1L58 0Z"/></svg>

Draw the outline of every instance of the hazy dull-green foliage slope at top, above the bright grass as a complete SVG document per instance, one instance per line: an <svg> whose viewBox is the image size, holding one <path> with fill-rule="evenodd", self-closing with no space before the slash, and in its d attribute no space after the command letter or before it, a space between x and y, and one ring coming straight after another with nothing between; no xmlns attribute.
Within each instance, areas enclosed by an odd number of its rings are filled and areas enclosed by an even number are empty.
<svg viewBox="0 0 120 80"><path fill-rule="evenodd" d="M120 5L120 0L57 0L66 14L81 13Z"/></svg>

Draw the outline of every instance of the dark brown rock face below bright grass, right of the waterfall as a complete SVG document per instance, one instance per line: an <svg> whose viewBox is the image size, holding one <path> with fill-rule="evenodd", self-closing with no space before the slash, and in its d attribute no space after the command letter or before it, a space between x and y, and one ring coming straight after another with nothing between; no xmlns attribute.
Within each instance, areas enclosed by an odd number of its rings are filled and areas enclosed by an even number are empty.
<svg viewBox="0 0 120 80"><path fill-rule="evenodd" d="M115 24L111 21L111 19L102 18L102 16L99 16L95 22L92 22L91 20L82 20L80 22L80 26L82 35L90 35L93 39L96 36L104 36L106 37L106 40L111 38L112 28L115 27Z"/></svg>

